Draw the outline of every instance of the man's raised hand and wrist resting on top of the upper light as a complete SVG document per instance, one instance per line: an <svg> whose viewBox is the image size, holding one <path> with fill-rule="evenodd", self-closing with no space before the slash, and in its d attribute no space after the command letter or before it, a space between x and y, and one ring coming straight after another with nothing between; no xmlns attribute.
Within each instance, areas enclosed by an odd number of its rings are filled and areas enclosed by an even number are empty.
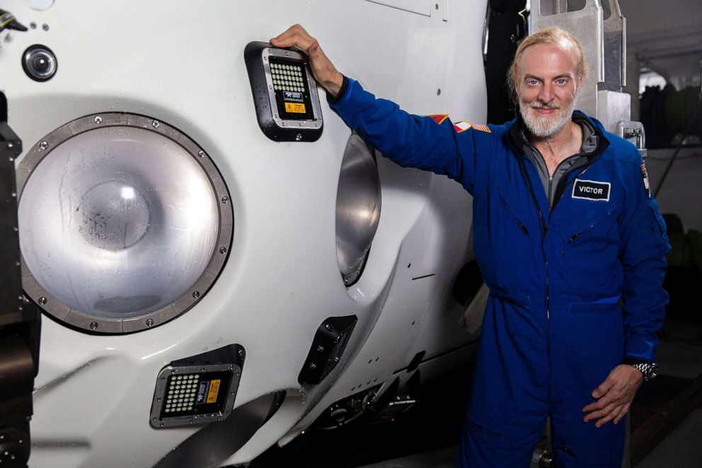
<svg viewBox="0 0 702 468"><path fill-rule="evenodd" d="M292 47L295 46L309 55L309 64L317 80L327 93L336 97L339 95L344 77L334 67L326 54L319 47L319 42L309 35L304 28L299 25L292 25L287 28L284 33L273 37L270 43L275 47Z"/></svg>

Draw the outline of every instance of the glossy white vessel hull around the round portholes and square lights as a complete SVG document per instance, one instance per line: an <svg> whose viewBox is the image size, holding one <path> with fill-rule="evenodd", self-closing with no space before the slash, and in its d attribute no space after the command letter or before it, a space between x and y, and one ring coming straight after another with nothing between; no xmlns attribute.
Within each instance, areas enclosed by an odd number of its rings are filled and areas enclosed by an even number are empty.
<svg viewBox="0 0 702 468"><path fill-rule="evenodd" d="M422 380L465 365L482 313L473 304L467 331L459 326L465 308L451 297L456 274L473 258L468 194L447 177L378 158L382 211L362 275L347 287L335 220L350 130L319 88L317 141L267 138L244 49L301 23L343 73L376 95L409 112L483 122L485 0L8 0L3 8L35 23L7 40L3 33L0 47L0 90L25 148L19 177L31 180L21 175L23 161L69 122L145 116L206 151L234 215L219 277L173 320L100 334L43 317L30 466L171 466L168 454L200 431L210 431L201 440L209 457L181 466L249 462L292 440L335 402L380 385L379 396L396 378L407 380L422 351ZM50 80L34 81L21 66L36 44L57 58ZM175 261L176 254L168 255ZM318 385L301 385L320 324L350 315L357 322L338 365ZM246 350L246 362L229 417L209 426L152 426L159 373L230 344ZM276 394L284 399L273 405ZM251 414L262 415L260 429L251 428Z"/></svg>

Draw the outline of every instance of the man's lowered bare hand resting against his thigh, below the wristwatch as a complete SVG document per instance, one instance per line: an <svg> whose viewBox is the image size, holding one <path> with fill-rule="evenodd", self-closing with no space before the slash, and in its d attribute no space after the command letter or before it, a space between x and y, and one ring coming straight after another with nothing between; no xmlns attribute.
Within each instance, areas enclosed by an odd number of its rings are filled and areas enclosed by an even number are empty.
<svg viewBox="0 0 702 468"><path fill-rule="evenodd" d="M618 423L626 416L631 407L634 395L643 382L643 374L631 365L617 365L607 378L593 392L592 397L597 402L588 404L582 409L585 419L597 419L594 426L599 428L612 421Z"/></svg>

